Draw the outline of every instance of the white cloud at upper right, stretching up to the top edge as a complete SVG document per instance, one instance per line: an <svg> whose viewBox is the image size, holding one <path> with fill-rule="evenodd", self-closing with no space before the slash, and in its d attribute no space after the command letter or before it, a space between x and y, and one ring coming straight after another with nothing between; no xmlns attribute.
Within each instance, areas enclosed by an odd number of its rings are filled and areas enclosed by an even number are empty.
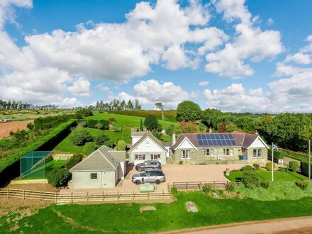
<svg viewBox="0 0 312 234"><path fill-rule="evenodd" d="M245 60L260 62L275 57L284 50L279 31L261 30L255 26L259 17L252 18L245 0L214 0L213 4L218 13L223 13L225 21L240 23L235 26L237 36L233 43L227 43L223 50L206 55L208 72L233 79L251 76L254 71L250 65L245 64Z"/></svg>

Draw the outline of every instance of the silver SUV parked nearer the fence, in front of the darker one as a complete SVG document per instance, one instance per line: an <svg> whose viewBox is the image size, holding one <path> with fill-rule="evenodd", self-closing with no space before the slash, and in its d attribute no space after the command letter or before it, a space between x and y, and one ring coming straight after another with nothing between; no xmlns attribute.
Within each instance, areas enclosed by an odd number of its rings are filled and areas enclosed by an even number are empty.
<svg viewBox="0 0 312 234"><path fill-rule="evenodd" d="M161 169L151 169L138 174L133 174L132 182L135 184L141 183L156 183L160 184L165 182L166 177L164 172Z"/></svg>

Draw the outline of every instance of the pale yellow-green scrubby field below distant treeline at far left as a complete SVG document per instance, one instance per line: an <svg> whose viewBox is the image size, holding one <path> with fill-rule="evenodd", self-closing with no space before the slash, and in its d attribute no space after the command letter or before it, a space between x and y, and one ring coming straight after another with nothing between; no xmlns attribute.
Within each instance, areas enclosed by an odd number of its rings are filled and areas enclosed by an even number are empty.
<svg viewBox="0 0 312 234"><path fill-rule="evenodd" d="M0 119L11 119L13 121L25 121L47 116L60 116L63 114L72 114L74 111L67 109L57 110L0 110Z"/></svg>

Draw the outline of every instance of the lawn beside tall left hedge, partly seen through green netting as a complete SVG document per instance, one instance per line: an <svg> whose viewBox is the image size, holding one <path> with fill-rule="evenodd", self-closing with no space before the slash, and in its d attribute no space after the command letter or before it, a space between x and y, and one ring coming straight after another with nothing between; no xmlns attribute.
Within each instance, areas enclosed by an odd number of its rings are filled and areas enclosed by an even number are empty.
<svg viewBox="0 0 312 234"><path fill-rule="evenodd" d="M53 169L60 168L64 166L66 160L51 160L47 162L45 165L42 165L38 168L33 169L30 174L22 177L21 179L46 179L48 174L52 172Z"/></svg>

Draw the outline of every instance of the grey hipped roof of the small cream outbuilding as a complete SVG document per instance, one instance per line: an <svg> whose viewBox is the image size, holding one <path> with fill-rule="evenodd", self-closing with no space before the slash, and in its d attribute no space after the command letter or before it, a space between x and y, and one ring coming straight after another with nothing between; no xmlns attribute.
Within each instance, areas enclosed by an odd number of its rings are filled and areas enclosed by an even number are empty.
<svg viewBox="0 0 312 234"><path fill-rule="evenodd" d="M82 160L82 162L69 169L69 172L111 171L118 168L119 162L125 161L126 151L116 151L103 145Z"/></svg>

